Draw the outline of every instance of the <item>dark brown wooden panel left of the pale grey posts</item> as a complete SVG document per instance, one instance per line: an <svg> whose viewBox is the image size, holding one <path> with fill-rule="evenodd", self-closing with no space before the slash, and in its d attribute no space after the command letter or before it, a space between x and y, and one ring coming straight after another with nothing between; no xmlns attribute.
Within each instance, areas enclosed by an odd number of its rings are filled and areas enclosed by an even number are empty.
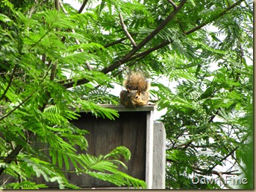
<svg viewBox="0 0 256 192"><path fill-rule="evenodd" d="M89 153L93 156L106 155L118 146L125 146L131 151L131 160L125 162L128 170L124 168L121 170L145 181L146 112L119 112L119 118L115 121L96 118L91 113L81 113L81 118L72 123L90 132L85 135L89 144L88 150L81 151L77 148L79 153ZM68 173L67 178L69 182L80 187L115 186L84 173L82 175Z"/></svg>

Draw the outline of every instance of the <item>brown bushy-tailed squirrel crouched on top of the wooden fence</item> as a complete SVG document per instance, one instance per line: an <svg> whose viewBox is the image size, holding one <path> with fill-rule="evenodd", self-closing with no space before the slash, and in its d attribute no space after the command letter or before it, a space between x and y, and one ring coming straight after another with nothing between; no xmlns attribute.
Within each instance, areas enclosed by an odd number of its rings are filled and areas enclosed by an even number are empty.
<svg viewBox="0 0 256 192"><path fill-rule="evenodd" d="M120 92L121 103L127 107L145 106L149 101L150 83L142 71L131 71L124 80L127 91Z"/></svg>

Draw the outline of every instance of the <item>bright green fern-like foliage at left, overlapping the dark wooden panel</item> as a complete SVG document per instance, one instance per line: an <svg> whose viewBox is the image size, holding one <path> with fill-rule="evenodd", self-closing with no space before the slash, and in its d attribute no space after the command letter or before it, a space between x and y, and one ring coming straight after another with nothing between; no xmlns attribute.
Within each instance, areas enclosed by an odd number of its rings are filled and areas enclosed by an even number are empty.
<svg viewBox="0 0 256 192"><path fill-rule="evenodd" d="M117 186L146 188L144 181L119 170L125 164L118 157L131 158L126 147L99 157L79 154L75 149L88 147L84 138L88 132L70 123L79 118L80 110L113 121L119 117L113 109L93 103L94 99L82 100L96 83L111 82L100 71L84 70L85 60L99 62L104 46L89 42L91 39L82 33L70 32L78 27L77 19L83 22L96 19L96 15L69 16L47 8L53 4L35 4L34 12L27 8L14 10L13 6L25 6L16 3L6 1L0 6L10 11L10 15L0 15L0 188L47 188L46 183L51 182L58 188L79 188L69 183L66 172L88 174ZM75 39L81 44L75 44ZM53 65L57 65L56 71ZM86 91L62 86L65 71L75 83L81 78L90 81ZM44 183L37 183L35 178L43 178Z"/></svg>

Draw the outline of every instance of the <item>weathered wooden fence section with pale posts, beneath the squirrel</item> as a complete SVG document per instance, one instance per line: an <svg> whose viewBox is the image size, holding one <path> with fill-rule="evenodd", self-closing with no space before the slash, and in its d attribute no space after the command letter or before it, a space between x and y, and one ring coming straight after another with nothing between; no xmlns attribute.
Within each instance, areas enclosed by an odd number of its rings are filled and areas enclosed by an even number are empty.
<svg viewBox="0 0 256 192"><path fill-rule="evenodd" d="M89 147L78 153L89 153L93 156L110 153L118 146L125 146L131 151L131 159L125 162L128 170L123 172L137 179L146 181L149 189L165 188L165 141L166 135L163 124L153 122L154 105L137 108L126 108L119 105L101 105L116 109L119 118L115 121L107 118L97 118L91 112L79 112L78 120L71 123L80 129L86 129L85 135ZM75 110L75 109L74 109ZM72 164L70 170L75 170ZM63 167L63 170L65 167ZM81 188L115 188L110 182L104 182L85 173L66 173L70 183ZM35 179L42 183L43 178ZM48 182L49 188L58 188L57 183Z"/></svg>

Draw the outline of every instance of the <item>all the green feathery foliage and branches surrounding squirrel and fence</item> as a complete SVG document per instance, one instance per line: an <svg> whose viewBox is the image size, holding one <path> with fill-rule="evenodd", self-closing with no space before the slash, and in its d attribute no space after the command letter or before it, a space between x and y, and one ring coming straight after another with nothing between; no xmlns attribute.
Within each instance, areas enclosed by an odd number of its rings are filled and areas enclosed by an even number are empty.
<svg viewBox="0 0 256 192"><path fill-rule="evenodd" d="M47 187L34 176L78 188L60 171L69 160L77 173L146 188L119 171L125 164L116 158L131 158L126 147L77 155L87 132L69 123L79 116L69 107L118 118L96 104L119 103L110 91L127 68L146 72L152 102L166 110L166 188L253 188L252 1L79 2L81 10L57 0L1 0L0 175L15 182L0 180L0 188ZM48 144L51 159L36 140ZM193 176L248 184L194 184Z"/></svg>

